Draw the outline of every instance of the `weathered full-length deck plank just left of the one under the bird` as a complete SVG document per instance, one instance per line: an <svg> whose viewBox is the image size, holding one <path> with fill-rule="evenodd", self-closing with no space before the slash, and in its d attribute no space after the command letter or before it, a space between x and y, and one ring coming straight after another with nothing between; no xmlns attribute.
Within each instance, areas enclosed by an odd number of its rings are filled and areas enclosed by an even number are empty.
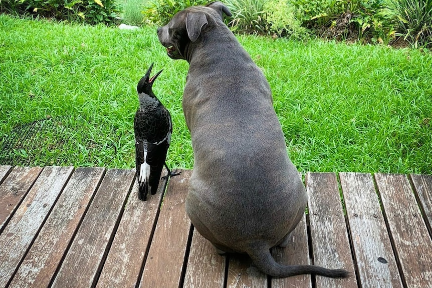
<svg viewBox="0 0 432 288"><path fill-rule="evenodd" d="M92 286L134 177L133 170L110 169L105 173L52 287Z"/></svg>

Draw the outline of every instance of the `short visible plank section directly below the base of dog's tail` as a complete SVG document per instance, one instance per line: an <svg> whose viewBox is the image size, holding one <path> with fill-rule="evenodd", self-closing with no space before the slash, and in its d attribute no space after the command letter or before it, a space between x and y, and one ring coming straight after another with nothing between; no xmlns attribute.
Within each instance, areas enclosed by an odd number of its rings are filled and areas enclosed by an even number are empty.
<svg viewBox="0 0 432 288"><path fill-rule="evenodd" d="M227 288L265 288L267 275L252 265L248 255L229 256Z"/></svg>

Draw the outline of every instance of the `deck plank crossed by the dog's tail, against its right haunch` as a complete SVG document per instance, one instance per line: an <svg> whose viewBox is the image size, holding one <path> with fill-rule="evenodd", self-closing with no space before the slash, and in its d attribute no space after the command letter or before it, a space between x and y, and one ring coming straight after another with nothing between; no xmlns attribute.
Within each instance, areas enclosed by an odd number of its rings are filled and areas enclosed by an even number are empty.
<svg viewBox="0 0 432 288"><path fill-rule="evenodd" d="M287 247L275 247L272 255L278 263L284 265L310 264L306 215L303 215L294 231L291 232L291 242ZM311 275L296 275L287 278L272 278L272 288L312 288Z"/></svg>

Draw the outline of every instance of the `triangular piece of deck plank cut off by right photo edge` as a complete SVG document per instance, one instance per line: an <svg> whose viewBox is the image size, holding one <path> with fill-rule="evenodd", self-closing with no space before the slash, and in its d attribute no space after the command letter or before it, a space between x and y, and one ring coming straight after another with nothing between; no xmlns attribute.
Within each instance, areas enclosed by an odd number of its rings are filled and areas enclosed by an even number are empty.
<svg viewBox="0 0 432 288"><path fill-rule="evenodd" d="M432 237L432 175L411 174L410 177Z"/></svg>

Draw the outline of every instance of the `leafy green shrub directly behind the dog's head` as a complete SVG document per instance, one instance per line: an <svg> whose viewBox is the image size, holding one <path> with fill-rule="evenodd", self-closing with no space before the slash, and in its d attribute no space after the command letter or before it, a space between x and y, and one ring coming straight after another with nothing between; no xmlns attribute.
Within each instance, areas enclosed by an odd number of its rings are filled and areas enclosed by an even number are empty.
<svg viewBox="0 0 432 288"><path fill-rule="evenodd" d="M155 25L165 25L179 11L195 5L205 5L208 0L150 0L144 8L142 14L145 22Z"/></svg>

